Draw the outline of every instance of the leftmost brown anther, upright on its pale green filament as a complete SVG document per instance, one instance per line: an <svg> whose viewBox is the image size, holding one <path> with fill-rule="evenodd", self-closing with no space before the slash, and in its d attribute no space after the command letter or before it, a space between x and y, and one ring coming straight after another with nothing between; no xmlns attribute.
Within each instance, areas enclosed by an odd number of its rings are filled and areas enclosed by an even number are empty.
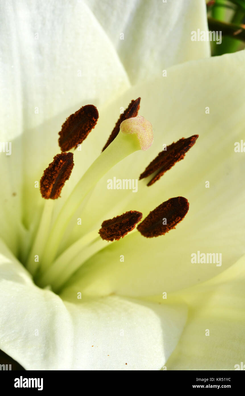
<svg viewBox="0 0 245 396"><path fill-rule="evenodd" d="M69 179L74 166L72 152L63 152L53 157L40 180L40 190L45 199L57 199L63 185Z"/></svg>

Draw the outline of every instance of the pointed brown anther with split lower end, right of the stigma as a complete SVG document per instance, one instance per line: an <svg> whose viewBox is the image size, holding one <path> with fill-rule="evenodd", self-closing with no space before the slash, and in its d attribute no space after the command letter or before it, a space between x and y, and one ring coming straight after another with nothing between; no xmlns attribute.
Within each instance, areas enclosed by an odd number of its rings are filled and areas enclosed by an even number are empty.
<svg viewBox="0 0 245 396"><path fill-rule="evenodd" d="M168 171L176 162L182 160L188 150L196 143L198 135L190 136L186 139L182 137L176 143L173 142L171 145L167 146L167 150L161 151L158 156L147 166L143 173L141 173L139 180L144 179L144 177L150 176L152 173L158 171L156 175L147 184L151 186L160 177Z"/></svg>

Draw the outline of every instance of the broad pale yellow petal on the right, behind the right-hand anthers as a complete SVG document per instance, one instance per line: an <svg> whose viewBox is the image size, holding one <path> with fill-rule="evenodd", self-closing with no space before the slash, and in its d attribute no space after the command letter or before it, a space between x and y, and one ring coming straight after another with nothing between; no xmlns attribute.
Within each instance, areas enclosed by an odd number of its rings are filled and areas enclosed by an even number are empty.
<svg viewBox="0 0 245 396"><path fill-rule="evenodd" d="M234 143L244 139L244 62L245 51L240 51L185 63L169 69L167 78L138 86L123 97L122 103L127 103L129 97L141 95L140 114L156 130L154 144L104 177L84 213L85 227L98 226L125 210L142 211L144 217L174 196L187 198L190 210L176 230L164 236L147 240L129 235L92 257L80 272L80 287L88 294L115 291L137 296L178 290L217 275L243 255L245 154L234 152ZM199 138L186 158L153 186L144 187L143 181L137 193L107 190L109 178L139 177L163 143L196 133ZM206 181L210 188L205 188ZM129 200L120 207L118 202L126 195ZM117 213L110 211L112 202ZM222 253L222 265L191 263L191 254L197 251Z"/></svg>

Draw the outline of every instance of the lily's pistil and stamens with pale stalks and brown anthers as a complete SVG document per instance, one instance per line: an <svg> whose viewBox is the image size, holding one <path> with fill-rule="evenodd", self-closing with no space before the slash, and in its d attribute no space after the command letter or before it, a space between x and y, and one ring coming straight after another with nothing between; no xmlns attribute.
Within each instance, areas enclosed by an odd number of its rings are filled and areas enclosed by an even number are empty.
<svg viewBox="0 0 245 396"><path fill-rule="evenodd" d="M85 198L89 198L89 193L98 181L123 158L137 150L148 150L152 145L152 124L138 115L140 100L141 98L132 100L129 107L120 115L101 154L78 181L53 219L53 207L74 166L73 153L66 151L84 141L95 128L99 113L95 106L86 105L71 114L62 125L59 132L59 146L62 152L55 155L40 180L41 194L46 201L26 260L26 267L38 286L51 287L53 291L59 293L74 272L108 244L117 243L116 241L131 232L139 231L147 238L164 235L175 228L188 212L189 203L186 198L170 198L151 211L137 228L135 228L136 224L142 220L141 212L130 210L123 214L119 213L113 219L104 220L100 229L95 228L85 232L75 242L68 243L65 250L61 249L72 216ZM197 137L198 135L182 138L177 143L167 146L167 150L158 154L139 179L155 173L147 185L155 183L165 171L184 158ZM34 260L37 254L38 262Z"/></svg>

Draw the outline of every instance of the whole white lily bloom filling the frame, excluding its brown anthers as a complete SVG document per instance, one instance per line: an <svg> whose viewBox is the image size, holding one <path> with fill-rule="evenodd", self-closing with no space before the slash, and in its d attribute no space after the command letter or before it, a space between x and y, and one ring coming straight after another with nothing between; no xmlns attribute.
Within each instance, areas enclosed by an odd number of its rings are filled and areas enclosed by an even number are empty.
<svg viewBox="0 0 245 396"><path fill-rule="evenodd" d="M0 349L25 369L233 369L244 353L245 162L234 143L243 138L245 53L209 58L209 43L190 40L207 30L201 1L117 1L113 12L110 2L87 4L21 1L4 11L1 141L11 155L0 153ZM133 152L137 141L127 150L118 135L100 156L120 109L139 96L153 145ZM98 123L74 152L61 198L44 206L36 182L59 152L66 117L88 103ZM197 133L154 185L108 190L108 179L138 179L163 144ZM81 205L77 183L84 197L90 188ZM95 238L104 220L132 209L144 219L179 196L190 210L176 230ZM222 253L222 266L191 263L197 251Z"/></svg>

